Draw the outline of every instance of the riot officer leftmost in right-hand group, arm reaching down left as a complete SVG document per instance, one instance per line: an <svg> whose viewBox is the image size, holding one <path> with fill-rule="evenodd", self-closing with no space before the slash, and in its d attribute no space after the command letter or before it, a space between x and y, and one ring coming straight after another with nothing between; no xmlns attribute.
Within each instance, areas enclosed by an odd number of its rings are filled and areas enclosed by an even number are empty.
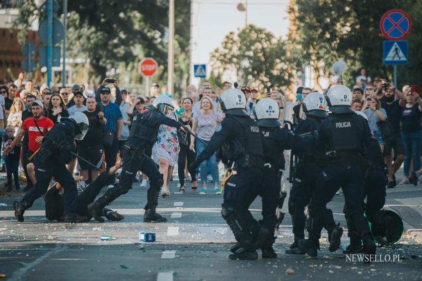
<svg viewBox="0 0 422 281"><path fill-rule="evenodd" d="M264 164L261 135L259 127L245 110L246 99L240 90L224 91L220 101L225 118L217 125L208 146L191 166L198 167L221 147L223 158L233 170L224 185L221 216L241 245L229 258L254 260L258 258L256 248L267 239L268 230L253 218L244 202L250 187L261 184Z"/></svg>

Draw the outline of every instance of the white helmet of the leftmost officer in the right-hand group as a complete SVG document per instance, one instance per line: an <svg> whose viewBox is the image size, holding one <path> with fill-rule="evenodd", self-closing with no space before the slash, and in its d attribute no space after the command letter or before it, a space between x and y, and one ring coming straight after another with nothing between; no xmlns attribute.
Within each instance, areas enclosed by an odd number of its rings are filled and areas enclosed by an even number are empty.
<svg viewBox="0 0 422 281"><path fill-rule="evenodd" d="M238 89L225 90L220 96L221 109L226 114L249 116L246 111L246 98Z"/></svg>

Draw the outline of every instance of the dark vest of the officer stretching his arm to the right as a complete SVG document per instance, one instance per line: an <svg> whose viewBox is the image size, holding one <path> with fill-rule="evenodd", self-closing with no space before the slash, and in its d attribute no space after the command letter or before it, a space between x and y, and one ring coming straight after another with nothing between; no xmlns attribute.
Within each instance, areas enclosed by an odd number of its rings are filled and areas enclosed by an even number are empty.
<svg viewBox="0 0 422 281"><path fill-rule="evenodd" d="M270 163L275 169L284 169L284 155L283 150L280 150L280 144L277 143L274 132L280 128L260 127L262 145L264 147L264 162ZM282 149L282 148L281 148Z"/></svg>

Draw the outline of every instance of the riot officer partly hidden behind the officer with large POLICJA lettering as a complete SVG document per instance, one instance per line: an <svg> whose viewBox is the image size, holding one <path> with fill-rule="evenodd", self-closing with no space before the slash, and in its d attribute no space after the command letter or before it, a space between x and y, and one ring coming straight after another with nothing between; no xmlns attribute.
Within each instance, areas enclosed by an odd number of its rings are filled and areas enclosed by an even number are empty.
<svg viewBox="0 0 422 281"><path fill-rule="evenodd" d="M301 103L306 119L303 119L294 130L296 135L309 134L318 130L321 122L327 118L326 103L324 96L320 93L310 93ZM306 217L304 208L309 204L312 193L316 188L319 175L325 168L325 151L308 147L304 151L294 151L298 157L296 172L293 178L293 186L288 201L288 211L293 225L294 241L286 254L305 254L297 247L297 241L305 238ZM334 222L333 212L326 209L324 216L324 227L329 233L330 251L336 251L340 246L340 239L343 229Z"/></svg>

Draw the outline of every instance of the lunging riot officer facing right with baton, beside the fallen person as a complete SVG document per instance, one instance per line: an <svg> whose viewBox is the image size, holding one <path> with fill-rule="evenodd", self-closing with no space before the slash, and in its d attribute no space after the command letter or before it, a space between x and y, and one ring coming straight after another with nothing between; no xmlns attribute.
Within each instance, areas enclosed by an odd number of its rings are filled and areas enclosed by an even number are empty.
<svg viewBox="0 0 422 281"><path fill-rule="evenodd" d="M155 212L158 205L160 188L163 185L163 175L150 157L144 154L152 147L157 139L158 128L161 124L179 128L173 116L173 101L167 96L158 96L152 105L146 107L148 111L134 116L128 140L124 145L123 169L120 173L119 184L108 189L103 196L88 205L88 211L98 222L104 222L102 211L105 206L113 202L122 194L132 189L132 184L139 170L147 174L149 188L146 195L144 223L161 223L167 219ZM181 128L181 127L180 127ZM183 128L181 128L183 129Z"/></svg>

